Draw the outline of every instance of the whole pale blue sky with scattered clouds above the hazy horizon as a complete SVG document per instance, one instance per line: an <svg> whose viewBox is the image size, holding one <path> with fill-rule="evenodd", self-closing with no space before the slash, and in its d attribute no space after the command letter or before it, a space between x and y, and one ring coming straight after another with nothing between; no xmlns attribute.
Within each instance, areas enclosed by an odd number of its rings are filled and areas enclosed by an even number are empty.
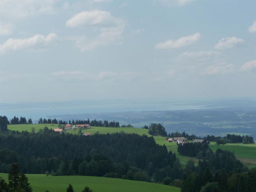
<svg viewBox="0 0 256 192"><path fill-rule="evenodd" d="M0 102L256 97L255 0L0 0Z"/></svg>

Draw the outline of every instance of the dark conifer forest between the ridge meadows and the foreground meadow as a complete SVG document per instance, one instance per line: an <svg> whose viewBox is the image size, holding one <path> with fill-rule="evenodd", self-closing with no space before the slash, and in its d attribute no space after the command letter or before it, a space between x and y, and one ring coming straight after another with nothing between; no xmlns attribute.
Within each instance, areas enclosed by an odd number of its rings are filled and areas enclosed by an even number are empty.
<svg viewBox="0 0 256 192"><path fill-rule="evenodd" d="M157 145L153 137L137 134L61 134L45 128L39 133L8 132L0 136L0 172L18 162L25 173L116 177L139 172L143 178L174 164L175 154ZM179 164L180 166L180 164ZM133 168L132 168L133 167ZM138 173L138 174L139 174Z"/></svg>

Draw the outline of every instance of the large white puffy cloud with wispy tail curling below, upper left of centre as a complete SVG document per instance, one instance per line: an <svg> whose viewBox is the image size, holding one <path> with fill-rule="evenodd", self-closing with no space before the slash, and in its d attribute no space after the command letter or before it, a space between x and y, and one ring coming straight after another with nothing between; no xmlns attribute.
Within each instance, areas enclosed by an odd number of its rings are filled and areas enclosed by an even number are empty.
<svg viewBox="0 0 256 192"><path fill-rule="evenodd" d="M110 12L92 10L82 11L66 22L67 27L96 26L97 36L87 38L85 35L75 38L75 44L81 51L119 43L125 27L122 19L111 16Z"/></svg>

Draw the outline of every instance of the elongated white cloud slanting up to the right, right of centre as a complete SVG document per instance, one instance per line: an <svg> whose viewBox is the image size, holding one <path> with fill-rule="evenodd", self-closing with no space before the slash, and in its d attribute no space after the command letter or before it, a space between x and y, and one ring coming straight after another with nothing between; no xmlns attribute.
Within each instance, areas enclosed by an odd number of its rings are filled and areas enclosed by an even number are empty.
<svg viewBox="0 0 256 192"><path fill-rule="evenodd" d="M200 33L196 33L194 35L189 35L185 36L182 38L179 38L177 40L167 40L166 42L163 43L158 43L155 45L156 49L171 49L171 48L180 48L180 47L185 47L190 44L193 44L198 41L200 38Z"/></svg>

